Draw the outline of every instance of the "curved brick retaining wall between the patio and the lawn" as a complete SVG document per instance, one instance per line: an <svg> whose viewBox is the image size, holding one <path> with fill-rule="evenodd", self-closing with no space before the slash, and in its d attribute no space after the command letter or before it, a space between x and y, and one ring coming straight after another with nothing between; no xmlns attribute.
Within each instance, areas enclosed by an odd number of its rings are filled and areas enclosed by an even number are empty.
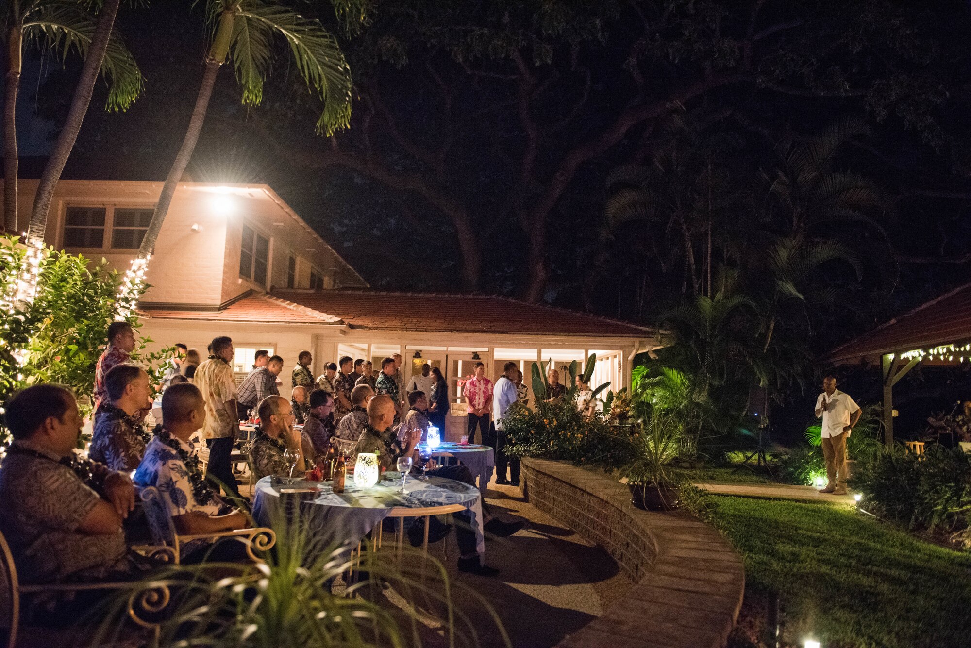
<svg viewBox="0 0 971 648"><path fill-rule="evenodd" d="M643 511L608 475L522 460L523 493L602 546L636 585L559 648L721 648L742 605L742 559L685 512Z"/></svg>

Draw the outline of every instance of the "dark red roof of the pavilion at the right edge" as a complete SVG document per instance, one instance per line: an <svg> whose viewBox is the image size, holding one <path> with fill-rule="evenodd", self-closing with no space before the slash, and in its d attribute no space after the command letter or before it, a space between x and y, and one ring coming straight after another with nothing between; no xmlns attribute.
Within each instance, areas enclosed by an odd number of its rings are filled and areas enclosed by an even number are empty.
<svg viewBox="0 0 971 648"><path fill-rule="evenodd" d="M830 351L825 360L840 364L876 362L885 353L901 353L971 340L971 283L891 319Z"/></svg>

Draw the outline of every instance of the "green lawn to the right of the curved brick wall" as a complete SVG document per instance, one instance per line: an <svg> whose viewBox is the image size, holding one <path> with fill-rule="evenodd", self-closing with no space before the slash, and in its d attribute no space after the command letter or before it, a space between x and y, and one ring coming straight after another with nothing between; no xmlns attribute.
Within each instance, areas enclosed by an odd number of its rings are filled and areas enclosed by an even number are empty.
<svg viewBox="0 0 971 648"><path fill-rule="evenodd" d="M781 593L802 645L971 646L971 555L824 504L710 497L745 560L747 587Z"/></svg>

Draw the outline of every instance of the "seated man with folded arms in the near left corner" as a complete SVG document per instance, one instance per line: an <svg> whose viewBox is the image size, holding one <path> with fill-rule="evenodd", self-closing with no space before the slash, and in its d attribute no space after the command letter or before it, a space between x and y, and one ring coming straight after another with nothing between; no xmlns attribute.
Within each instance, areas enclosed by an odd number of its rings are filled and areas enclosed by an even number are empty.
<svg viewBox="0 0 971 648"><path fill-rule="evenodd" d="M128 475L74 454L82 419L60 385L7 400L13 443L0 466L0 531L25 582L115 579L127 571L121 521L135 507Z"/></svg>

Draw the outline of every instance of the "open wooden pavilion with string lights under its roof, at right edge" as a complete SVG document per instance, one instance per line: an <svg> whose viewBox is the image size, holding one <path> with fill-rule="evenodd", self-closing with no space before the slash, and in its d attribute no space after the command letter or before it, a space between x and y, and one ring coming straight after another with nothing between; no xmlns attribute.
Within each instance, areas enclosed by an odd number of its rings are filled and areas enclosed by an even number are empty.
<svg viewBox="0 0 971 648"><path fill-rule="evenodd" d="M884 437L893 442L893 386L919 363L956 367L971 362L971 283L914 308L830 351L834 365L880 367Z"/></svg>

